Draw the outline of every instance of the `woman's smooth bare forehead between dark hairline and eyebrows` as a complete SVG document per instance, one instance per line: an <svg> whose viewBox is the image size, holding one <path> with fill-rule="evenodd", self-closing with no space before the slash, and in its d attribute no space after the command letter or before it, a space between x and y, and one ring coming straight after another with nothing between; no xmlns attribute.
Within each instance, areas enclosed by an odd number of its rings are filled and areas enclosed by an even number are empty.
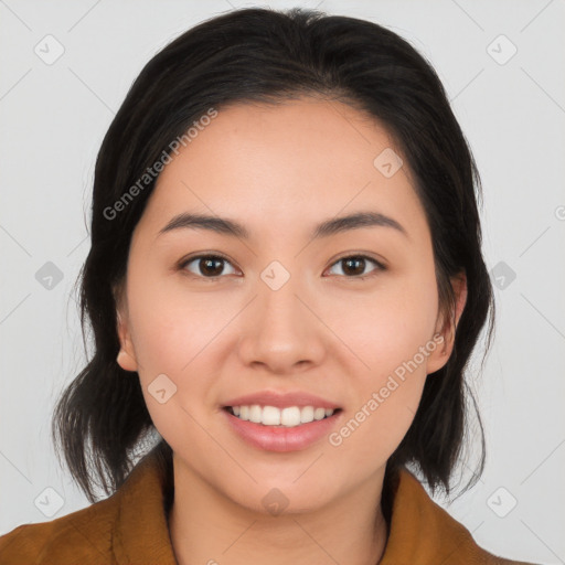
<svg viewBox="0 0 565 565"><path fill-rule="evenodd" d="M206 124L159 175L146 209L146 222L160 223L153 231L185 210L288 225L375 204L388 215L418 206L405 164L392 177L375 164L383 152L399 154L392 136L342 103L237 104Z"/></svg>

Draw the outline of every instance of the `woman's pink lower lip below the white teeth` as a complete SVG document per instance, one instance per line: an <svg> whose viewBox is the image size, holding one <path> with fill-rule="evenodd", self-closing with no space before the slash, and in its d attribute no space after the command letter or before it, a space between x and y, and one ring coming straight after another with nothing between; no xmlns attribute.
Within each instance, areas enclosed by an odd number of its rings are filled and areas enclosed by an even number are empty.
<svg viewBox="0 0 565 565"><path fill-rule="evenodd" d="M342 411L338 411L328 418L299 426L277 427L239 419L226 409L222 412L227 417L232 429L247 444L266 451L279 452L300 451L309 448L330 433L342 413Z"/></svg>

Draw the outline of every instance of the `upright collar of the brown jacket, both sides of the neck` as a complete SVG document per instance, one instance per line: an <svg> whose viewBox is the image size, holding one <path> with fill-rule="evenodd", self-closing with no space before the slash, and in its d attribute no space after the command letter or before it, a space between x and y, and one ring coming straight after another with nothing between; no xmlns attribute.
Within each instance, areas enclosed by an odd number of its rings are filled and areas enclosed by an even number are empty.
<svg viewBox="0 0 565 565"><path fill-rule="evenodd" d="M408 470L398 471L392 488L390 533L380 565L462 565L489 563L489 556L495 558L429 498ZM117 562L177 565L166 511L164 477L153 452L137 463L116 494L119 510L113 544Z"/></svg>

